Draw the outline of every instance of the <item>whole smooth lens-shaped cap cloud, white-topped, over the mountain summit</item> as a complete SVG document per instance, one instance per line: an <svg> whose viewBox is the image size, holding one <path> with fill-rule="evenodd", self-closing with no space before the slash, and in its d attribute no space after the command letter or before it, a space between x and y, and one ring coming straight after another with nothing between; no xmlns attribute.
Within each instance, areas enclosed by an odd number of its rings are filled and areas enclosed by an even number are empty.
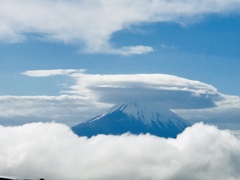
<svg viewBox="0 0 240 180"><path fill-rule="evenodd" d="M69 93L100 102L157 101L168 108L209 108L221 98L211 85L165 74L70 75L76 84Z"/></svg>

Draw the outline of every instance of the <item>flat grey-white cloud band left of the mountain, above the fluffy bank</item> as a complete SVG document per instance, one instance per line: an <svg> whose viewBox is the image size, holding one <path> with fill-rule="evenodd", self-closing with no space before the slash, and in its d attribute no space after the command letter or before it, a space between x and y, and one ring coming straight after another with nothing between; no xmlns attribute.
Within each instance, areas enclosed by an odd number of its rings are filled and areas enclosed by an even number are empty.
<svg viewBox="0 0 240 180"><path fill-rule="evenodd" d="M37 119L56 121L70 126L102 113L109 104L74 95L0 96L0 122L25 124ZM17 119L17 120L16 120Z"/></svg>

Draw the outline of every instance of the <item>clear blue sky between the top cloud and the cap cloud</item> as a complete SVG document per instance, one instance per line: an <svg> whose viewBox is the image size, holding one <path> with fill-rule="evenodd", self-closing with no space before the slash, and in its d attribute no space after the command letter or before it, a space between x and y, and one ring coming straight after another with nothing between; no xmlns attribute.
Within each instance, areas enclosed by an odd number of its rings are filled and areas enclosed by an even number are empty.
<svg viewBox="0 0 240 180"><path fill-rule="evenodd" d="M111 43L116 46L144 44L154 47L155 51L129 56L81 53L78 45L39 41L31 35L24 42L2 42L1 94L27 95L24 89L16 92L11 87L11 84L18 86L25 82L20 72L26 70L83 68L89 73L103 74L172 74L212 84L223 93L240 95L239 32L240 18L236 14L207 16L186 26L140 24L114 33ZM26 80L26 86L29 81Z"/></svg>

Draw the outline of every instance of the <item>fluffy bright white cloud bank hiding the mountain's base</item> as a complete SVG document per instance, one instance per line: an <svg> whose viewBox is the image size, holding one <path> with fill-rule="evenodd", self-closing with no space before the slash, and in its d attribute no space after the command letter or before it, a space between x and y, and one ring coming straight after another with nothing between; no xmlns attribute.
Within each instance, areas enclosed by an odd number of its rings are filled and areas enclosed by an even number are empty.
<svg viewBox="0 0 240 180"><path fill-rule="evenodd" d="M77 137L57 123L0 126L0 175L46 179L239 179L240 140L198 123L177 139Z"/></svg>

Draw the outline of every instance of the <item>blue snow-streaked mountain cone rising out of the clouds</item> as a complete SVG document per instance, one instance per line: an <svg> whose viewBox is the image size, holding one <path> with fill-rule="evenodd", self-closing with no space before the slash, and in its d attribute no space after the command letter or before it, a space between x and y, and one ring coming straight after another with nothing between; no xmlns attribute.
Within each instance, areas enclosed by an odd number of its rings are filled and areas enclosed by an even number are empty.
<svg viewBox="0 0 240 180"><path fill-rule="evenodd" d="M190 125L188 121L155 103L129 102L117 104L107 112L72 127L72 130L79 136L87 137L130 132L176 138Z"/></svg>

